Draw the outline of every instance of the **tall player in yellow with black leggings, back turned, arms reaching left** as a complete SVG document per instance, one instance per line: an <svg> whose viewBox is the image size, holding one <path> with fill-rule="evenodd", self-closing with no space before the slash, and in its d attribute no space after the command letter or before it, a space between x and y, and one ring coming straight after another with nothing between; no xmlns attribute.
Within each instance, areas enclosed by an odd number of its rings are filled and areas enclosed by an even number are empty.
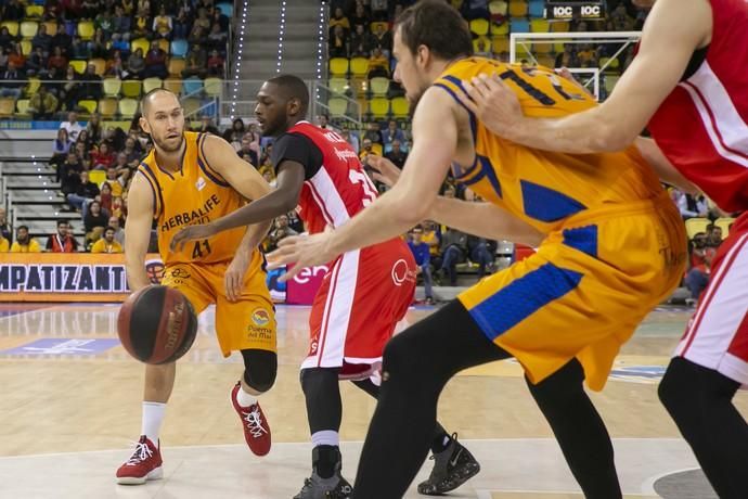
<svg viewBox="0 0 748 499"><path fill-rule="evenodd" d="M285 240L273 264L327 261L423 219L539 247L389 342L352 497L402 497L426 456L444 384L465 368L515 357L584 496L620 498L612 446L583 381L603 388L620 345L679 283L685 234L676 209L633 148L549 154L490 133L455 94L488 69L507 81L525 114L595 104L551 72L470 57L467 26L443 1L403 12L394 54L395 78L417 102L402 175L341 228ZM439 197L450 166L488 203Z"/></svg>

